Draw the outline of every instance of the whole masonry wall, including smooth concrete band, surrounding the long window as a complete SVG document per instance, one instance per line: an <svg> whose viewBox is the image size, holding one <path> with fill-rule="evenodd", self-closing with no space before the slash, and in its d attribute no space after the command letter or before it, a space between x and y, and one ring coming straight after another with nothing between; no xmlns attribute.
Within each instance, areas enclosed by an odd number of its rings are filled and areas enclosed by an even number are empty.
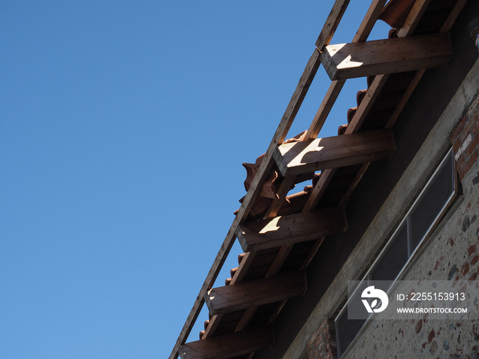
<svg viewBox="0 0 479 359"><path fill-rule="evenodd" d="M451 144L456 149L460 194L417 252L405 279L451 280L452 284L477 280L479 165L474 159L478 155L478 91L476 60L294 341L277 358L335 358L334 328L327 323L346 302L348 280L361 279ZM371 321L344 358L475 358L478 329L478 322L443 323L427 317L386 324Z"/></svg>

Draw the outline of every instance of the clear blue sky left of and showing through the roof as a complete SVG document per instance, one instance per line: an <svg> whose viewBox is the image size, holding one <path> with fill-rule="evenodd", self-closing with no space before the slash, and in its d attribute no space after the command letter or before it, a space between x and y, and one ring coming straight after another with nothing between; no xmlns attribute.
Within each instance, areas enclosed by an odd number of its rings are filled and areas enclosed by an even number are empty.
<svg viewBox="0 0 479 359"><path fill-rule="evenodd" d="M0 358L168 358L333 2L1 2Z"/></svg>

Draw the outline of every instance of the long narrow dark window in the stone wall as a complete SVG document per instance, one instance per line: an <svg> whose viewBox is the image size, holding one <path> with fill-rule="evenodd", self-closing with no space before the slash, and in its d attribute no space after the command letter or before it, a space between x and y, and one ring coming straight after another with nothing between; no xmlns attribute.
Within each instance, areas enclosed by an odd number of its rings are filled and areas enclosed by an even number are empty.
<svg viewBox="0 0 479 359"><path fill-rule="evenodd" d="M387 288L381 288L387 291L400 276L419 245L441 220L443 213L454 200L456 192L454 152L451 149L417 196L376 261L368 269L355 293L362 293L363 289L369 287L371 280L387 281ZM346 351L366 322L365 319L348 319L347 305L342 308L335 319L339 357Z"/></svg>

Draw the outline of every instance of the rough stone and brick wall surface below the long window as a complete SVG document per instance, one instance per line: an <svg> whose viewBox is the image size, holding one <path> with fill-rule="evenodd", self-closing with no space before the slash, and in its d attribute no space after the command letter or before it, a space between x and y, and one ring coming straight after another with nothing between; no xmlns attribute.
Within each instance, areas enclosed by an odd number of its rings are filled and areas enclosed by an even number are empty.
<svg viewBox="0 0 479 359"><path fill-rule="evenodd" d="M452 132L463 194L410 264L404 280L477 280L479 275L479 96ZM334 344L334 343L333 343ZM323 345L324 343L321 343ZM331 350L309 358L331 358ZM331 347L331 345L330 345ZM416 319L370 321L341 358L479 358L478 320Z"/></svg>

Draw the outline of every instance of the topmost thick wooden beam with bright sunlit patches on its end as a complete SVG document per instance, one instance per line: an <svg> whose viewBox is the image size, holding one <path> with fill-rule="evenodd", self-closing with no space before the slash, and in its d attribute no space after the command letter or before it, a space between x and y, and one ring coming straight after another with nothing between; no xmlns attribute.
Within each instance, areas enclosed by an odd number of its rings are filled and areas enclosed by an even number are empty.
<svg viewBox="0 0 479 359"><path fill-rule="evenodd" d="M429 34L326 46L322 64L331 80L437 68L452 56L449 34Z"/></svg>

